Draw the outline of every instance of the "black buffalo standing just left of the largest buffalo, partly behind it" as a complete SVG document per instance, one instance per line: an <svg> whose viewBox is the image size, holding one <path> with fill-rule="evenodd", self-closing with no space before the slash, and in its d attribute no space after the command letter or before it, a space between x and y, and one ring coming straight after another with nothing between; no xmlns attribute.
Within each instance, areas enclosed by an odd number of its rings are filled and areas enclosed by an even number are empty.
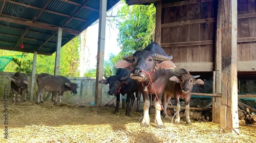
<svg viewBox="0 0 256 143"><path fill-rule="evenodd" d="M105 79L101 79L99 83L109 84L108 95L116 96L116 109L115 113L119 112L119 103L120 103L120 93L121 95L127 94L126 98L126 116L131 116L130 111L133 108L134 103L134 93L136 92L137 97L137 112L139 111L140 104L140 95L138 82L132 78L130 78L131 70L127 69L118 69L116 75L107 77L104 73ZM130 105L131 98L131 105ZM129 107L130 105L130 107Z"/></svg>

